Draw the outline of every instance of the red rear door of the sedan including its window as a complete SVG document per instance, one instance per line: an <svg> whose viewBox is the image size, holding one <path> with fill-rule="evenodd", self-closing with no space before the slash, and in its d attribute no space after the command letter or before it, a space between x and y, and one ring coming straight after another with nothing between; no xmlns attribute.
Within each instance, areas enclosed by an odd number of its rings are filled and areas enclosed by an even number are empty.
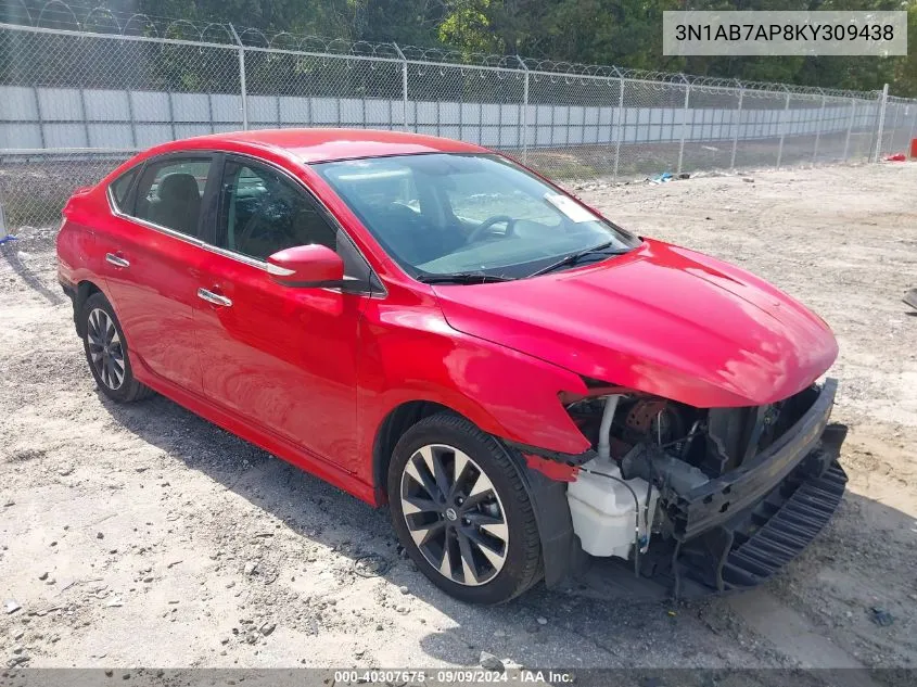
<svg viewBox="0 0 917 687"><path fill-rule="evenodd" d="M135 365L196 393L202 382L192 307L205 253L203 198L214 167L208 154L148 161L129 193L112 185L115 220L97 233L103 278Z"/></svg>

